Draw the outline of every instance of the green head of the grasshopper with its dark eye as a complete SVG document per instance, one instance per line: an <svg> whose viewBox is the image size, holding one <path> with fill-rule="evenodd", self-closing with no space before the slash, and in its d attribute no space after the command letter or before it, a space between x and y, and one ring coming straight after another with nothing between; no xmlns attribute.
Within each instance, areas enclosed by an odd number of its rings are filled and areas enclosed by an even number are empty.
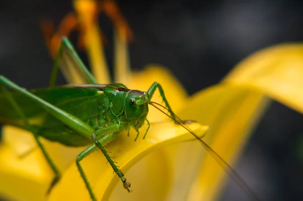
<svg viewBox="0 0 303 201"><path fill-rule="evenodd" d="M131 121L134 128L140 128L148 114L148 101L149 97L146 92L131 90L128 92L124 99L124 113L125 116Z"/></svg>

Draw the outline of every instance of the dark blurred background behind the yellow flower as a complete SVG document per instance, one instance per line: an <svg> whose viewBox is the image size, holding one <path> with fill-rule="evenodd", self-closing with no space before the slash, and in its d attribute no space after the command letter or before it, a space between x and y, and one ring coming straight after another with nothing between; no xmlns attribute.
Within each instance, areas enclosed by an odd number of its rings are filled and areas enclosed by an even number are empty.
<svg viewBox="0 0 303 201"><path fill-rule="evenodd" d="M218 83L256 50L303 39L303 1L117 2L135 34L132 68L161 63L190 94ZM69 1L2 0L0 74L25 88L46 87L53 60L39 20L49 18L58 25L69 11ZM99 21L111 42L110 21L104 15ZM71 38L75 42L77 35ZM112 65L113 47L106 51ZM274 102L237 162L236 171L263 200L302 199L302 122L301 114ZM228 181L220 200L246 199Z"/></svg>

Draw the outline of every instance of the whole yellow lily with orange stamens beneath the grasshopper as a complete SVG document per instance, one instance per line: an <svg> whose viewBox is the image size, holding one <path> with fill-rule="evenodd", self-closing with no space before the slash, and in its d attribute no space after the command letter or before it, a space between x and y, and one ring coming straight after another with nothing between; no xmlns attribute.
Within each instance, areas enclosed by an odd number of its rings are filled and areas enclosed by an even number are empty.
<svg viewBox="0 0 303 201"><path fill-rule="evenodd" d="M100 83L110 82L102 51L102 37L95 22L98 12L105 12L115 24L115 81L144 91L154 81L161 83L169 103L182 119L195 119L210 126L203 140L230 164L240 153L249 132L268 105L265 95L303 111L300 104L303 46L300 44L262 50L242 61L218 85L188 97L180 83L162 66L149 65L144 71L130 72L127 40L132 39L132 34L113 1L96 3L78 0L74 7L77 16L68 14L56 34L50 24L44 24L51 54L56 55L60 37L78 27L81 31L78 44L88 52L94 76ZM67 80L83 82L76 73L65 76ZM280 83L279 88L277 82ZM161 103L159 93L154 96L154 101ZM123 132L107 148L131 182L132 193L123 189L100 152L81 161L97 198L214 200L226 176L222 167L184 128L168 121L155 108L150 107L147 119L153 123L145 140L134 142L134 132L130 137ZM189 126L199 137L208 128L198 123ZM141 130L144 129L146 127ZM43 141L63 173L61 181L46 197L44 193L54 176L53 172L38 149L21 160L16 157L31 149L27 145L34 146L30 134L23 132L11 126L4 128L4 143L0 145L0 192L17 200L90 200L75 165L75 157L83 148L67 148Z"/></svg>

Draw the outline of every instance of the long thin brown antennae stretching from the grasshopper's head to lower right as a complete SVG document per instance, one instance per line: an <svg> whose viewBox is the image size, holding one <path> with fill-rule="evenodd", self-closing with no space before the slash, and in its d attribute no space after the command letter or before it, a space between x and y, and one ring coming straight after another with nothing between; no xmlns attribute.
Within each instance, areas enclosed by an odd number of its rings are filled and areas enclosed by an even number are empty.
<svg viewBox="0 0 303 201"><path fill-rule="evenodd" d="M165 106L163 106L163 105L161 105L159 103L153 102L153 101L144 101L144 102L148 103L148 104L150 104L152 106L154 106L156 109L158 109L159 111L161 111L162 113L164 113L169 118L173 119L173 121L175 121L176 123L178 123L179 125L181 125L183 128L185 128L188 132L190 132L191 135L193 135L198 141L200 141L202 143L202 145L205 147L205 149L214 157L214 159L218 162L218 164L222 167L222 169L224 169L224 171L228 175L231 176L231 178L238 184L238 186L240 188L242 188L247 194L249 194L250 197L254 198L255 200L261 200L256 195L256 193L249 187L249 185L244 181L244 179L242 179L242 177L217 152L215 152L215 150L213 150L208 144L206 144L202 139L200 139L197 135L195 135L194 132L192 132L190 129L188 129L184 125L184 123L181 120L181 118L179 118L173 111L171 111L167 107L165 107ZM162 109L160 109L156 105L159 105L160 107L162 107L162 108L166 109L167 111L169 111L171 114L174 114L178 120L172 118L170 115L168 115L167 113L165 113Z"/></svg>

